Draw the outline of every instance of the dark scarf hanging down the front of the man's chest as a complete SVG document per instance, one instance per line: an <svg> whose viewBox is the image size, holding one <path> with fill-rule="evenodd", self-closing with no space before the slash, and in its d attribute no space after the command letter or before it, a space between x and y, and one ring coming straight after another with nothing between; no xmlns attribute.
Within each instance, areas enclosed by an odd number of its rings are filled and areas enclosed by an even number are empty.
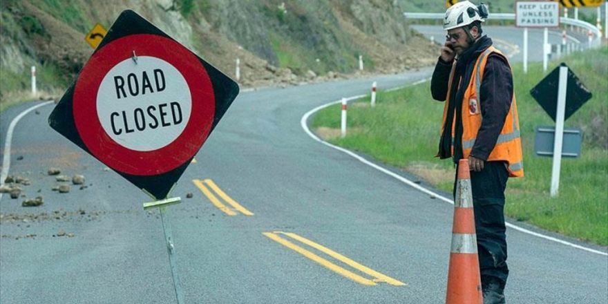
<svg viewBox="0 0 608 304"><path fill-rule="evenodd" d="M471 76L473 75L473 68L477 57L484 53L484 51L492 45L492 39L486 35L477 39L473 46L466 49L462 55L459 55L456 60L456 70L454 77L452 78L450 99L448 102L448 113L446 115L446 122L444 124L444 133L441 134L441 140L439 141L439 158L450 158L453 157L455 162L458 162L462 158L462 117L456 115L456 134L454 139L454 155L451 153L452 144L452 122L454 120L454 113L462 112L462 98L464 97L464 91L471 82ZM460 80L462 78L462 81ZM458 86L460 84L460 86Z"/></svg>

